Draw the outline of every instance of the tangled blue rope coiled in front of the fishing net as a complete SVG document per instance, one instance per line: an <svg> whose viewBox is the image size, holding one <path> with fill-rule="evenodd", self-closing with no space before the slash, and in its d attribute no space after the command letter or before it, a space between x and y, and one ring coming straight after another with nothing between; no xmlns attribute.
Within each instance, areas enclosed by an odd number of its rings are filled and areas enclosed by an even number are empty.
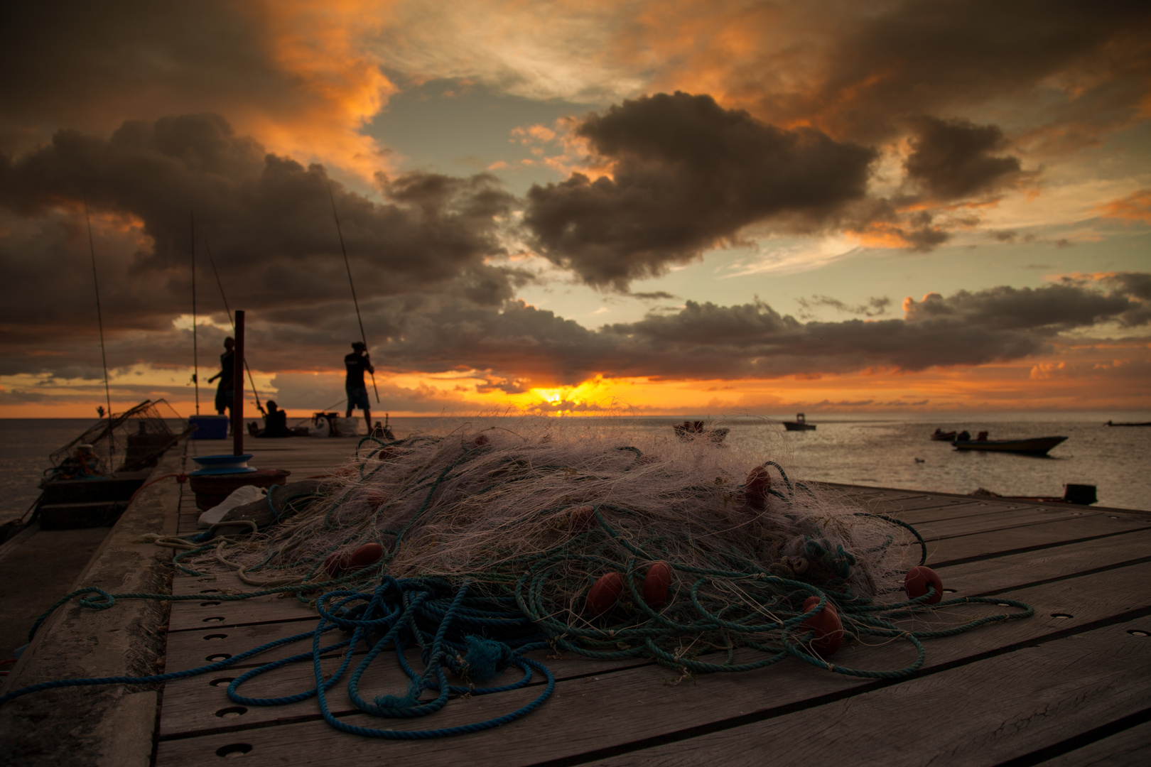
<svg viewBox="0 0 1151 767"><path fill-rule="evenodd" d="M422 739L490 729L535 711L555 690L556 678L542 664L523 657L526 652L548 646L548 643L539 629L516 607L514 599L510 597L470 597L470 582L465 581L458 589L453 590L450 584L436 578L396 580L386 575L372 592L337 590L320 597L317 603L320 620L311 631L268 642L226 660L168 674L41 682L0 696L0 705L30 692L59 688L99 684L153 684L186 678L218 672L268 650L310 638L312 641L310 652L291 655L245 672L228 685L228 697L235 703L247 706L281 706L306 700L314 696L319 699L320 712L325 721L331 727L368 737ZM101 590L86 589L83 592L101 592ZM110 597L106 593L101 596ZM92 597L85 598L84 601L91 603L87 606L96 608L106 608L114 604L113 599L101 600ZM321 637L333 629L351 631L351 637L321 646ZM382 636L372 642L374 635ZM547 684L531 703L508 714L481 722L428 730L391 730L348 724L333 715L326 693L344 676L351 664L352 652L360 642L366 643L369 649L349 677L348 693L357 707L376 716L390 719L426 716L443 708L451 693L480 696L518 690L531 684L534 672L540 672L547 680ZM404 657L404 651L413 646L420 649L422 672L413 669ZM360 677L372 662L389 647L395 651L398 665L409 678L407 690L403 696L383 695L373 701L367 701L359 692ZM320 668L321 658L341 649L343 650L343 659L340 667L329 678L325 678ZM239 688L245 682L276 668L306 660L312 661L315 672L315 687L312 689L276 698L251 698L239 693ZM451 672L473 683L485 682L509 666L517 666L524 672L524 676L518 682L497 687L475 687L474 684L450 684L447 677L448 672ZM421 699L425 691L435 692L435 699Z"/></svg>

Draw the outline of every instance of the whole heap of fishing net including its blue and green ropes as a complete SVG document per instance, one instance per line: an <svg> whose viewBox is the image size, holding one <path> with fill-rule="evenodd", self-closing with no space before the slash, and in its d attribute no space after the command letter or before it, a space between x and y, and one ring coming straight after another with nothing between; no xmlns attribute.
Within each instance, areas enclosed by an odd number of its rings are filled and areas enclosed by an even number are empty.
<svg viewBox="0 0 1151 767"><path fill-rule="evenodd" d="M548 650L548 658L566 651L654 659L679 673L673 683L786 658L839 674L901 677L922 666L922 639L1034 614L1001 597L942 600L942 582L923 567L920 535L832 489L793 482L775 460L785 450L768 424L750 435L732 429L726 442L715 428L664 429L503 417L398 440L366 438L356 460L329 477L274 486L195 539L152 537L182 550L174 562L185 573L230 572L253 586L221 588L213 599L296 595L319 613L313 628L200 668L45 682L0 696L0 704L55 687L214 673L308 643L307 651L239 674L229 699L273 706L315 697L336 729L430 738L506 724L539 707L556 680L528 657L534 650ZM37 626L76 597L102 609L116 599L203 595L85 588ZM844 644L893 641L909 643L914 661L867 670L828 660ZM534 700L485 721L360 727L334 714L326 697L360 645L366 653L348 695L380 716L422 716L452 696L525 688L534 674L546 683ZM417 650L421 668L409 658ZM340 667L325 673L321 661L337 651ZM384 652L409 680L406 693L365 699L360 678ZM313 665L315 687L276 698L243 688L292 662ZM501 677L512 666L520 678Z"/></svg>

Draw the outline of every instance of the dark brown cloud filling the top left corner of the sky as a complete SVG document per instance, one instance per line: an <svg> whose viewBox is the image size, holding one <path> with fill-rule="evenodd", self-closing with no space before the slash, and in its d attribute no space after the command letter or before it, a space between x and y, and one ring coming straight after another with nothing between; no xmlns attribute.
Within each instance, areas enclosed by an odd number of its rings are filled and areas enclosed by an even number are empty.
<svg viewBox="0 0 1151 767"><path fill-rule="evenodd" d="M266 106L303 107L270 48L266 20L251 5L3 3L3 138L45 126L110 129L125 115L241 106L253 94Z"/></svg>

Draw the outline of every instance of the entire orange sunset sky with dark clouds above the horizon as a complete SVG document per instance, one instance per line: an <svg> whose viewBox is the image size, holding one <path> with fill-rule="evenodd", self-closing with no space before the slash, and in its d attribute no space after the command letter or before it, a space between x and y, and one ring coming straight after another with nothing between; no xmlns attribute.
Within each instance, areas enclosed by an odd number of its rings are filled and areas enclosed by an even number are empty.
<svg viewBox="0 0 1151 767"><path fill-rule="evenodd" d="M1151 5L13 3L0 417L1151 408ZM201 383L200 409L214 386ZM251 414L251 411L250 411Z"/></svg>

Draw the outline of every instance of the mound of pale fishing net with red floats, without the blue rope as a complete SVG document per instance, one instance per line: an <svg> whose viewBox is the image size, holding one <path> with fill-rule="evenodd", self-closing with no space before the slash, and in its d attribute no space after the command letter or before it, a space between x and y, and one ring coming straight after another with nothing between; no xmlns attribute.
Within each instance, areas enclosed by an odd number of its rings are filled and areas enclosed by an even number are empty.
<svg viewBox="0 0 1151 767"><path fill-rule="evenodd" d="M329 480L235 509L177 559L312 598L344 589L367 600L381 577L420 581L433 584L428 599L447 600L441 613L466 581L472 608L527 619L496 637L512 650L542 637L685 672L788 654L830 668L822 655L876 635L916 645L918 659L891 672L910 673L923 660L917 636L931 632L889 619L942 597L925 584L915 599L905 593L907 572L925 559L918 534L792 482L763 455L771 442L546 417L368 438ZM498 621L474 635L493 636ZM740 649L760 655L735 662Z"/></svg>

